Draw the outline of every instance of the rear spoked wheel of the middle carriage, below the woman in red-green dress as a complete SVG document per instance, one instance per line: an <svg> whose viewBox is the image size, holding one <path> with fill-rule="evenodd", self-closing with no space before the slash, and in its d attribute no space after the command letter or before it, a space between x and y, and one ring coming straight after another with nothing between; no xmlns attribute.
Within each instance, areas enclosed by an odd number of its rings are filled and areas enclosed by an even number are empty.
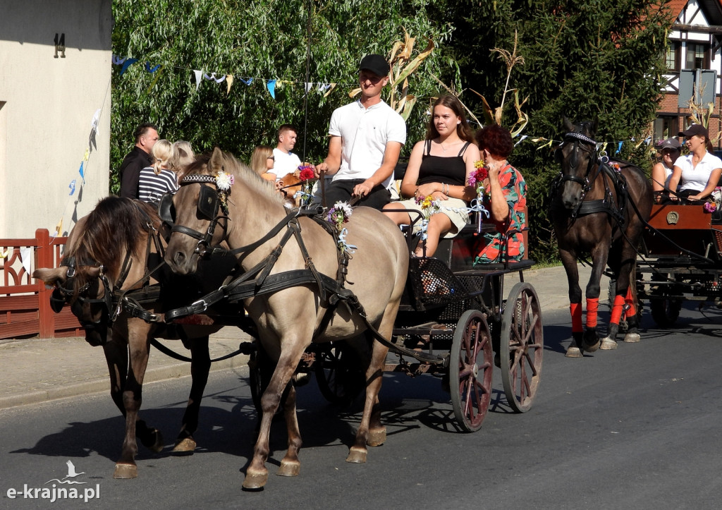
<svg viewBox="0 0 722 510"><path fill-rule="evenodd" d="M510 407L526 412L539 389L544 329L534 287L519 282L509 293L501 323L501 379Z"/></svg>

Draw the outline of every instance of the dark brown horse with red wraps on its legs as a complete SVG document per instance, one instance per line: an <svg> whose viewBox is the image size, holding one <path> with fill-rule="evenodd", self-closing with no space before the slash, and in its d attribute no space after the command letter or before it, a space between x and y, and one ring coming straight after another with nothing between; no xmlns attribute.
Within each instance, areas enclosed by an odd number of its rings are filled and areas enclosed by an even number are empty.
<svg viewBox="0 0 722 510"><path fill-rule="evenodd" d="M559 253L569 280L569 301L574 342L567 357L582 351L617 348L622 313L627 316L625 342L638 342L638 307L634 280L637 248L649 219L652 186L640 168L622 161L607 161L596 152L596 122L575 125L564 119L567 134L557 148L562 166L552 192L552 220ZM586 287L586 332L582 326L582 292L577 259L588 253L592 272ZM600 280L609 264L617 280L612 317L604 339L597 336Z"/></svg>

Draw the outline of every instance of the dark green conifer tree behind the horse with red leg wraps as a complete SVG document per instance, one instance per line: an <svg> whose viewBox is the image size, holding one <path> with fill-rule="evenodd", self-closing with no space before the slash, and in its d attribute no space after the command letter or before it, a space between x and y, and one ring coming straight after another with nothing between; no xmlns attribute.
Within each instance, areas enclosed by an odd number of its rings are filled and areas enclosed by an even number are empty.
<svg viewBox="0 0 722 510"><path fill-rule="evenodd" d="M492 48L511 51L518 31L518 54L510 85L529 98L524 134L560 139L562 115L573 120L599 120L601 142L616 150L619 140L640 140L653 120L664 85L666 35L674 20L664 0L448 0L435 4L435 16L456 28L451 53L464 87L495 107L505 84L505 63ZM481 111L471 92L462 96ZM516 121L513 103L505 105L504 125ZM547 218L549 183L559 172L552 147L520 143L510 158L529 184L531 254L556 256ZM622 157L649 167L643 144L625 144Z"/></svg>

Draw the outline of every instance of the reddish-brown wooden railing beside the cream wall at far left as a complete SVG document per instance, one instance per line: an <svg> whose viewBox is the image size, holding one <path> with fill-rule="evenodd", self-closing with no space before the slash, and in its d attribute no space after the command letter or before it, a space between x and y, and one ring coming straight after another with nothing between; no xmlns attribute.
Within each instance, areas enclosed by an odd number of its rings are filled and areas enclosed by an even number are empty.
<svg viewBox="0 0 722 510"><path fill-rule="evenodd" d="M51 238L45 228L35 238L0 239L0 339L79 337L84 333L70 308L50 308L51 289L32 278L40 267L58 267L67 238Z"/></svg>

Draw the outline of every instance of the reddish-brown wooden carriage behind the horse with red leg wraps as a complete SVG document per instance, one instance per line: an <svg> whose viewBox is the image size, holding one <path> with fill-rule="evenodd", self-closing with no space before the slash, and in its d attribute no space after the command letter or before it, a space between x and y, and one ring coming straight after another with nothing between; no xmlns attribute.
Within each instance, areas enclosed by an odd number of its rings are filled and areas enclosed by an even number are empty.
<svg viewBox="0 0 722 510"><path fill-rule="evenodd" d="M637 262L638 297L659 327L671 327L684 301L722 298L722 216L701 204L654 205Z"/></svg>

